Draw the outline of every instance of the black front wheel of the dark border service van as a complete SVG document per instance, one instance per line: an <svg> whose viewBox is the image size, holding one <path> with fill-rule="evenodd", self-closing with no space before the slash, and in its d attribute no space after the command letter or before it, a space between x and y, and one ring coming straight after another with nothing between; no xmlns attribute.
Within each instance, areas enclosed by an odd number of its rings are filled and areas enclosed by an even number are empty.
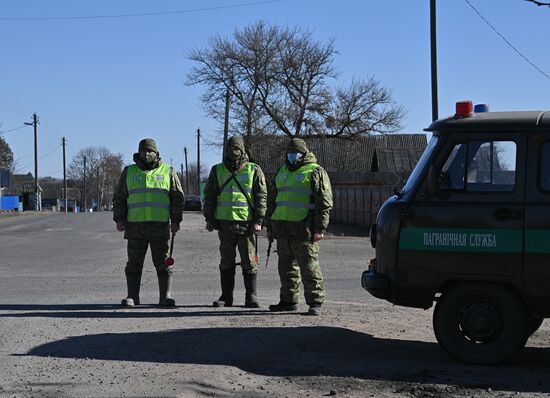
<svg viewBox="0 0 550 398"><path fill-rule="evenodd" d="M467 283L445 292L434 311L435 337L459 361L502 362L525 345L529 315L509 289Z"/></svg>

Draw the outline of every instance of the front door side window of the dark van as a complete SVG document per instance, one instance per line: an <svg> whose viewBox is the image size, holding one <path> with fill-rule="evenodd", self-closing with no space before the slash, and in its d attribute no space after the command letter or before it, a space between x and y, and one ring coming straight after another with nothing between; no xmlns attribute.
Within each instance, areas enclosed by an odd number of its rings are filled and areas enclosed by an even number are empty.
<svg viewBox="0 0 550 398"><path fill-rule="evenodd" d="M516 144L469 141L457 144L443 165L440 189L511 192L516 183Z"/></svg>

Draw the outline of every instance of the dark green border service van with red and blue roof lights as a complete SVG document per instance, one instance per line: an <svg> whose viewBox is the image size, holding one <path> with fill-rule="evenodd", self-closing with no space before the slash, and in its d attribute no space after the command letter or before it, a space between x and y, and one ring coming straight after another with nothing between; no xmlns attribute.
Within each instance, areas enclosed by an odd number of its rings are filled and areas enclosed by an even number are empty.
<svg viewBox="0 0 550 398"><path fill-rule="evenodd" d="M511 357L550 317L550 112L458 102L371 227L362 286L430 308L459 361Z"/></svg>

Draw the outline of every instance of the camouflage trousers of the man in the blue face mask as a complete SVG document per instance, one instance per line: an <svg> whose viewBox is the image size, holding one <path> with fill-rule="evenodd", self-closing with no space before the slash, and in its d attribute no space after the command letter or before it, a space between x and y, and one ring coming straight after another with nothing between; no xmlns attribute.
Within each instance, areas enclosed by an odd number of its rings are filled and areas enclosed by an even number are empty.
<svg viewBox="0 0 550 398"><path fill-rule="evenodd" d="M298 303L302 281L306 303L321 304L325 298L325 284L318 260L319 245L309 240L297 242L292 237L277 238L277 254L281 301Z"/></svg>

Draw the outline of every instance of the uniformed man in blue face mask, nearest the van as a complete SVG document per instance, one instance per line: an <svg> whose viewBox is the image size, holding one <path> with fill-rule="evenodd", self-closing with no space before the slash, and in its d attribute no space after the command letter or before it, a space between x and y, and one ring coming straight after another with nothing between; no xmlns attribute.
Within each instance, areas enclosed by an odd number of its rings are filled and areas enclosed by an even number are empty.
<svg viewBox="0 0 550 398"><path fill-rule="evenodd" d="M292 138L286 158L268 198L268 239L277 239L281 281L280 301L269 310L296 311L301 280L308 314L319 315L325 287L317 242L326 233L332 209L330 180L304 140Z"/></svg>

